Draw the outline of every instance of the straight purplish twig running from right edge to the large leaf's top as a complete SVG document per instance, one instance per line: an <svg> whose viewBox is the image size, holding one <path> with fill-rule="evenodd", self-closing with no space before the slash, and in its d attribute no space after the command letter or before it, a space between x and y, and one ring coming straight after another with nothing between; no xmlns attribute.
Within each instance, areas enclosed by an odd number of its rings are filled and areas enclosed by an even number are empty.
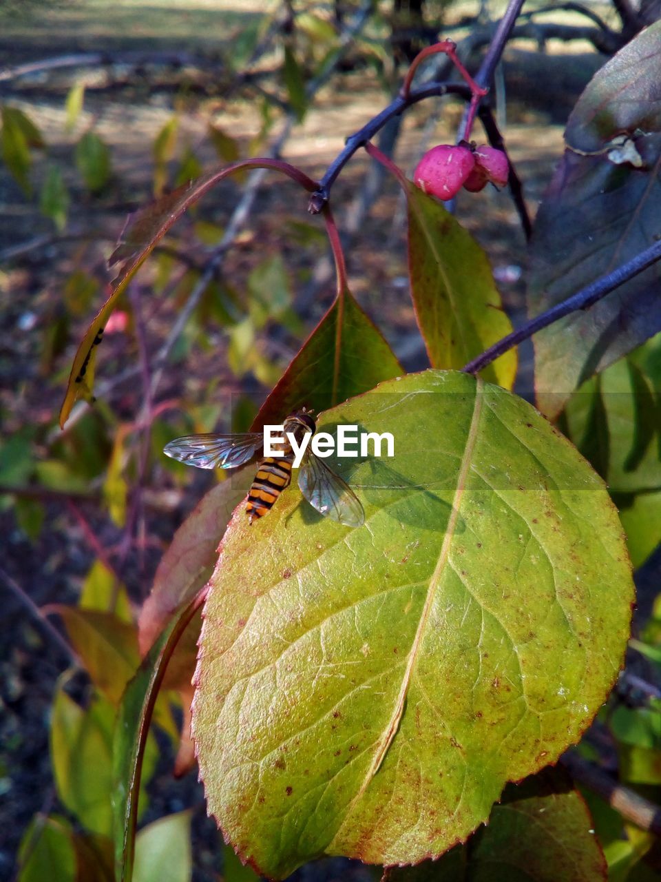
<svg viewBox="0 0 661 882"><path fill-rule="evenodd" d="M556 303L555 306L552 306L546 312L542 312L541 315L531 318L523 327L509 333L502 340L498 340L497 343L494 343L494 346L490 346L481 355L478 355L477 358L473 358L471 362L465 364L462 370L469 374L475 374L479 370L486 368L487 364L491 364L500 355L518 346L523 340L528 340L529 337L541 331L542 328L553 325L553 322L568 316L571 312L588 309L593 303L597 303L602 297L610 294L614 288L619 288L624 282L633 279L634 276L655 264L659 258L661 258L661 242L655 242L649 248L637 254L635 258L628 260L626 264L622 264L613 270L612 273L601 276L598 280L588 285L587 288L583 288L577 294L568 297L567 300L563 300L562 303Z"/></svg>

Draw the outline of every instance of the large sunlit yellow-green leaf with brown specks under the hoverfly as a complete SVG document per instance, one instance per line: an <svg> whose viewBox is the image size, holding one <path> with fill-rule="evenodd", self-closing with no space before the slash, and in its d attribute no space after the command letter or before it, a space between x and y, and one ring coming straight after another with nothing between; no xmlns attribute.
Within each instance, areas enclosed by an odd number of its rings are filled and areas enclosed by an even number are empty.
<svg viewBox="0 0 661 882"><path fill-rule="evenodd" d="M227 529L193 702L209 811L271 878L322 854L414 863L575 744L613 685L634 587L613 505L524 400L461 372L323 415L395 457L329 462L364 527L295 485ZM351 474L348 474L351 469Z"/></svg>

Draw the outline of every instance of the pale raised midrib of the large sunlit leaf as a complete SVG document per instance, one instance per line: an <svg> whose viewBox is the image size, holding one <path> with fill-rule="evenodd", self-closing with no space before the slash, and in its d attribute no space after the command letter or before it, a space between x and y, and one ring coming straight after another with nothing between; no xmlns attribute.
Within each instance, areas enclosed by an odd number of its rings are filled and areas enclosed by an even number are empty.
<svg viewBox="0 0 661 882"><path fill-rule="evenodd" d="M471 417L471 425L469 427L468 435L466 437L464 455L462 457L461 466L459 467L459 473L457 475L457 488L452 499L452 510L449 515L448 527L445 531L445 535L443 536L441 551L439 552L438 560L436 561L436 566L434 567L434 572L429 579L429 587L427 588L425 605L422 608L422 612L420 614L420 623L418 624L418 628L415 632L415 637L413 638L411 649L409 650L405 674L402 678L402 685L397 695L397 701L390 716L390 721L386 728L383 730L382 737L379 740L378 744L376 744L374 759L372 760L372 763L368 768L368 772L365 775L362 783L360 784L360 788L358 789L356 795L353 796L353 799L347 808L345 820L340 825L338 833L341 831L342 827L345 826L346 820L351 816L353 809L360 802L360 798L368 789L370 782L374 779L375 774L381 767L382 762L390 749L390 745L395 740L397 729L399 729L399 723L402 719L402 715L404 714L406 694L411 684L412 673L420 651L420 644L422 643L422 639L424 637L427 619L434 604L436 590L441 582L442 574L445 570L446 565L448 564L449 549L451 548L452 541L455 535L455 529L457 527L459 509L461 506L462 498L464 497L466 480L472 463L472 453L478 437L479 415L482 410L483 385L483 381L479 377L477 377L477 382L475 386L475 404ZM336 837L338 833L336 833Z"/></svg>

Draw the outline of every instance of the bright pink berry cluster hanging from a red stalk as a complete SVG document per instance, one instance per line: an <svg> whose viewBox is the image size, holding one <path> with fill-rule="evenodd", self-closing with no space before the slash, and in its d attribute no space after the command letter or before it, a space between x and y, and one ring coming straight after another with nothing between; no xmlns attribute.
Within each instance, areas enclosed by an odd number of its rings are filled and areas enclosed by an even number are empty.
<svg viewBox="0 0 661 882"><path fill-rule="evenodd" d="M472 193L483 190L489 182L503 187L508 175L507 156L495 147L439 144L422 157L413 172L413 183L431 196L447 200L462 187Z"/></svg>

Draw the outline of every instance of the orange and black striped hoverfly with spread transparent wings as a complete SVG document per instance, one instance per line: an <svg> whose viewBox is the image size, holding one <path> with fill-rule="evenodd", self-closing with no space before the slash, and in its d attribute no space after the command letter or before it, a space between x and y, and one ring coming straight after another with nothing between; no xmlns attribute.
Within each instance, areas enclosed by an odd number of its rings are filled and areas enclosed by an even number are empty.
<svg viewBox="0 0 661 882"><path fill-rule="evenodd" d="M246 503L250 524L271 510L280 493L292 480L294 453L287 433L291 433L296 444L301 445L306 434L316 431L316 420L311 411L303 407L287 416L284 429L285 443L281 445L279 455L259 460ZM188 435L170 441L163 452L187 466L236 468L251 460L263 446L262 432ZM316 456L310 445L301 461L298 484L308 503L324 517L337 520L346 527L360 527L365 522L365 512L359 498L339 475Z"/></svg>

